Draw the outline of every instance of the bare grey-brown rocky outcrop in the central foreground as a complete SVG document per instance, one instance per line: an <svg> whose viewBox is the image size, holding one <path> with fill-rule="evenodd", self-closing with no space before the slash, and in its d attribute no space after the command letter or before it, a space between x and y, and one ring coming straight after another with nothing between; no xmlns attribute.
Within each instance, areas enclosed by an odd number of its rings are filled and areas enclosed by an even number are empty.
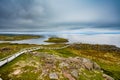
<svg viewBox="0 0 120 80"><path fill-rule="evenodd" d="M95 76L96 73L102 74L100 66L96 62L93 62L87 58L64 58L56 55L50 55L48 53L35 54L35 52L33 52L33 56L39 57L40 62L42 62L41 79L49 75L49 79L53 80L64 80L64 78L67 78L68 80L79 80L80 75L86 76L86 78L87 76L90 76L85 73L85 70L89 72L95 71L93 76ZM103 74L101 77L105 80L114 80L112 77L106 74Z"/></svg>

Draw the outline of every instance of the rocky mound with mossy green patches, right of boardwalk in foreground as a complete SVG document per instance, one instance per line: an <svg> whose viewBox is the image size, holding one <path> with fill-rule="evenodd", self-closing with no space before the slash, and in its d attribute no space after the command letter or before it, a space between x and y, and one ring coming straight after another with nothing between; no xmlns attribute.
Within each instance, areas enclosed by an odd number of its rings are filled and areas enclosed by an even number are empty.
<svg viewBox="0 0 120 80"><path fill-rule="evenodd" d="M114 80L87 58L45 52L26 53L1 70L3 80Z"/></svg>

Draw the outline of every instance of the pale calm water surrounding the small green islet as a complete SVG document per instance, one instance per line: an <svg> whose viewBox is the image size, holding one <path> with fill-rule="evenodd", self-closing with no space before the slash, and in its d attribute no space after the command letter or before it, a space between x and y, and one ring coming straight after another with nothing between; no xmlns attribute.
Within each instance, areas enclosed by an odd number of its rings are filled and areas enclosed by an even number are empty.
<svg viewBox="0 0 120 80"><path fill-rule="evenodd" d="M37 34L38 35L38 34ZM43 38L29 39L21 41L10 41L11 43L29 43L29 44L50 44L44 42L49 37L57 36L67 38L69 43L90 43L90 44L108 44L120 47L120 34L39 34ZM4 42L4 41L0 41Z"/></svg>

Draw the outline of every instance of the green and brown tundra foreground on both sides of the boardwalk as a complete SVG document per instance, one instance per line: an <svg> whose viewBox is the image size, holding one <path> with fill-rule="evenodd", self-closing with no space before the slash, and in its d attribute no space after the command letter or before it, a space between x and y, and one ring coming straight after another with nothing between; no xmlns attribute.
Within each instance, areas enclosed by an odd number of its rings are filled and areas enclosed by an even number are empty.
<svg viewBox="0 0 120 80"><path fill-rule="evenodd" d="M55 48L65 45L40 46ZM0 57L3 57L24 47L39 45L0 43L0 46ZM113 45L80 43L64 49L40 49L22 54L0 67L3 80L119 80L119 75L120 48Z"/></svg>

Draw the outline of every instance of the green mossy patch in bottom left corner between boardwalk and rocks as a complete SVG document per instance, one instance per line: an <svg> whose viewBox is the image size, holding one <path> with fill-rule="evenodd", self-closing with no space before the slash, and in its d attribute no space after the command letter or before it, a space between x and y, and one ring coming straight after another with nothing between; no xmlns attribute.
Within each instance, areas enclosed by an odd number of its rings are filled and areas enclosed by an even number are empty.
<svg viewBox="0 0 120 80"><path fill-rule="evenodd" d="M29 54L23 54L20 57L16 58L14 61L7 63L0 68L0 77L4 80L36 80L36 77L40 72L34 72L34 70L36 70L36 67L30 65L30 59L35 58Z"/></svg>

